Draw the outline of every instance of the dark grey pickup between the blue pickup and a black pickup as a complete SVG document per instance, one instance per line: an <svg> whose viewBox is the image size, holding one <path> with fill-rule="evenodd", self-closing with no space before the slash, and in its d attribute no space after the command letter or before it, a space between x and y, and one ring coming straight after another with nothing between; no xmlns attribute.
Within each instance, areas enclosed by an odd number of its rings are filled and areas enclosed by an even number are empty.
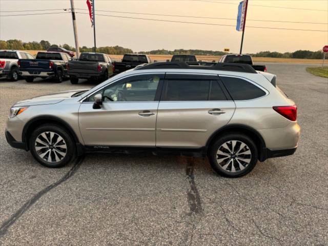
<svg viewBox="0 0 328 246"><path fill-rule="evenodd" d="M113 75L112 60L104 53L83 52L79 59L69 61L68 75L72 84L77 84L79 78L105 81Z"/></svg>

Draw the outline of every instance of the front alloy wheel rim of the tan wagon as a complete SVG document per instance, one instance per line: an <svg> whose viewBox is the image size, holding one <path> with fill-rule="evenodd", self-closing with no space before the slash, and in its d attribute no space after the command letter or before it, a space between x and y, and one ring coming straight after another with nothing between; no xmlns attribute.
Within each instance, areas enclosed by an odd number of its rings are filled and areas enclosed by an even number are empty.
<svg viewBox="0 0 328 246"><path fill-rule="evenodd" d="M43 132L35 139L37 155L45 161L56 163L67 154L67 145L63 137L55 132Z"/></svg>

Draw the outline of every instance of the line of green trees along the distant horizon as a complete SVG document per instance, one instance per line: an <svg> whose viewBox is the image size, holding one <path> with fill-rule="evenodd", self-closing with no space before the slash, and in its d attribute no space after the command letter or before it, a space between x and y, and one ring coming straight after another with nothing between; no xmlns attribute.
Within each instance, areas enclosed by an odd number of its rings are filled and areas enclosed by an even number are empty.
<svg viewBox="0 0 328 246"><path fill-rule="evenodd" d="M50 44L50 42L46 40L41 40L40 42L22 42L22 40L18 39L10 39L10 40L0 40L0 49L1 50L48 50L50 47L62 47L67 50L75 51L75 48L68 45L56 45ZM86 46L80 47L80 52L93 52L93 47L88 48ZM112 55L122 55L126 53L136 53L131 49L120 47L120 46L106 46L106 47L98 47L96 48L97 52L112 54ZM175 49L175 50L151 50L151 51L140 51L138 53L142 54L151 54L151 55L174 55L174 54L193 54L193 55L225 55L228 54L223 51L213 51L213 50L185 50L185 49ZM323 53L321 50L318 51L310 51L310 50L297 50L295 52L271 52L271 51L260 51L255 54L251 54L252 56L257 57L276 57L276 58L306 58L306 59L322 59Z"/></svg>

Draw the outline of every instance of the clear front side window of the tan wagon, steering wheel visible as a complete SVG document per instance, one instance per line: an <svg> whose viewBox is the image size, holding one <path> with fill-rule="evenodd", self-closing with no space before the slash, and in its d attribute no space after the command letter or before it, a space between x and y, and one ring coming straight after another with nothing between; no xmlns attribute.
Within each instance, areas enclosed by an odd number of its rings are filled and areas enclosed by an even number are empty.
<svg viewBox="0 0 328 246"><path fill-rule="evenodd" d="M137 75L122 79L93 94L89 101L94 101L94 95L103 94L105 103L115 101L153 101L162 74Z"/></svg>

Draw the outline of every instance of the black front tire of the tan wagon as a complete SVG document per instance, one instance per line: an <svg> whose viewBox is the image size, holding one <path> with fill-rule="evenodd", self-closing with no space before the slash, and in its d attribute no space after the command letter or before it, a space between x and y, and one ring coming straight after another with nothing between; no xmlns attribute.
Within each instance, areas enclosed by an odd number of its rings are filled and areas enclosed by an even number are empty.
<svg viewBox="0 0 328 246"><path fill-rule="evenodd" d="M41 136L43 142L46 144L49 144L50 140L50 132L54 133L52 141L50 143L50 149L47 147L43 147L45 145L40 145L39 143L36 144L36 139L39 137L38 141L40 140L40 134L45 133L47 139L44 139L43 136ZM56 140L59 139L59 137L56 137L56 135L60 136L64 139L64 141L58 142L57 145L54 144ZM37 146L35 146L37 145ZM66 146L65 148L59 148L55 146ZM43 149L36 150L37 147L42 147ZM43 166L49 167L49 168L60 168L65 166L67 163L69 163L71 160L74 160L76 157L76 147L75 142L71 135L65 131L64 129L60 128L56 125L46 124L38 127L35 129L29 138L29 148L31 150L31 154L33 157ZM42 158L40 155L44 154L46 151L48 151L48 154ZM48 161L49 159L49 152L51 154L51 161ZM65 153L65 155L60 155L59 153ZM58 161L57 161L58 158ZM60 159L61 158L61 159ZM47 160L46 160L47 159ZM54 160L54 161L52 161Z"/></svg>

